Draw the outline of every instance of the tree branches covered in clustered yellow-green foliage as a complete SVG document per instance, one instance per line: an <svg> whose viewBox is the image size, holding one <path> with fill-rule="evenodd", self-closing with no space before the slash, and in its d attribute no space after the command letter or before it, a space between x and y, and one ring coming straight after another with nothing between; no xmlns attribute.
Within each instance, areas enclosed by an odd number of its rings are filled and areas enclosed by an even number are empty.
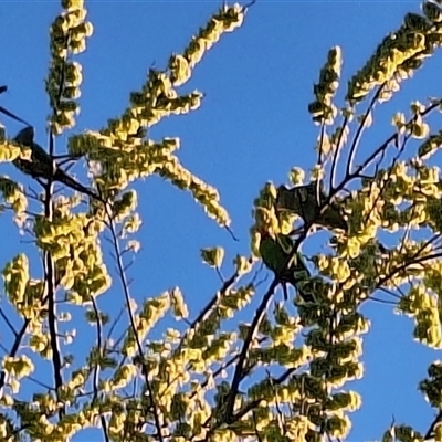
<svg viewBox="0 0 442 442"><path fill-rule="evenodd" d="M41 277L31 276L24 253L2 270L0 316L13 339L2 344L0 440L66 441L90 427L98 427L105 441L343 440L351 428L350 412L361 404L348 382L364 376L361 343L370 323L360 312L362 303L379 296L394 302L397 313L413 319L415 339L442 347L442 181L433 166L442 133L428 123L430 114L442 110L442 98L414 102L407 114L393 115L391 135L355 161L375 108L442 45L441 7L425 1L422 14L408 13L350 77L340 105L341 50L329 51L308 106L318 127L311 178L303 182L305 171L295 167L288 172L291 187L267 182L261 189L251 254L233 259L230 277L221 276L221 246L201 251L222 284L188 319L179 287L141 305L130 294L127 260L139 249L135 235L141 219L129 186L159 176L189 191L208 217L229 228L218 190L180 164L179 139L148 136L164 118L200 106L200 92L178 88L206 52L242 24L248 8L223 6L181 54L170 56L167 69L149 70L119 118L71 135L62 160L54 155L54 138L75 127L82 84L76 55L93 33L83 3L62 0L50 28L50 136L48 154L39 158L50 158L52 170L46 161L44 173L35 173L32 139L7 139L3 133L0 141L0 161L21 170L25 165L23 171L42 186L33 194L0 178L2 210L10 210L34 240L44 270ZM88 192L56 179L64 161L87 166ZM60 183L82 194L55 196ZM90 196L86 210L84 193ZM303 246L318 230L329 233L328 252L306 256ZM112 244L108 259L104 238ZM264 290L259 290L260 259L273 274ZM113 276L110 263L116 264ZM120 317L108 316L97 302L112 286L120 287L127 319L120 337L114 333ZM227 322L252 299L259 306L251 322L230 330ZM7 304L18 320L4 313ZM96 334L83 361L69 349L75 333L61 328L71 320L60 307L67 305L80 306ZM166 316L186 328L165 330ZM151 337L154 330L161 330L160 338ZM46 361L52 385L39 381ZM383 441L442 440L441 367L434 361L419 385L436 411L434 421L421 432L394 423ZM31 398L21 390L25 379L39 386Z"/></svg>

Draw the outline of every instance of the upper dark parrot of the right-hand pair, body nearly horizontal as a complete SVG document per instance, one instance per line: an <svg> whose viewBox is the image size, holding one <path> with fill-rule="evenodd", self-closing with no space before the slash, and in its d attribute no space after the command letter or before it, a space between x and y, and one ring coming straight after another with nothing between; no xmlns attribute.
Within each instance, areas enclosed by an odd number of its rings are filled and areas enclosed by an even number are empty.
<svg viewBox="0 0 442 442"><path fill-rule="evenodd" d="M339 204L333 202L320 213L320 204L326 194L319 188L319 201L316 196L316 181L292 189L285 186L277 188L276 208L299 215L306 224L319 224L329 229L343 229L348 232L348 223L344 219Z"/></svg>

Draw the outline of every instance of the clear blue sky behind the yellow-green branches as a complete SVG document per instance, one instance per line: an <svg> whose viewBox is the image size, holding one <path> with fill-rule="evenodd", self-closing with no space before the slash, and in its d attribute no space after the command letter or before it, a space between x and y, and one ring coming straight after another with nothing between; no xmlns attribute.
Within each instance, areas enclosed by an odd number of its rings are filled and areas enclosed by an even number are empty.
<svg viewBox="0 0 442 442"><path fill-rule="evenodd" d="M143 299L178 285L191 317L199 313L219 287L215 273L201 263L199 249L222 245L228 263L235 253L246 254L252 203L262 186L267 180L285 182L293 166L308 169L314 165L317 128L311 122L307 105L327 51L341 46L345 86L381 39L400 25L406 12L418 12L419 4L261 0L249 11L240 30L224 35L207 53L192 80L181 88L198 88L206 94L200 109L162 122L154 127L150 137L181 138L181 162L219 189L240 242L233 242L208 220L190 194L156 177L136 183L144 225L139 233L143 249L129 270L134 297ZM144 83L148 67L162 69L170 53L181 52L219 6L218 1L91 1L87 9L94 35L78 57L84 83L75 131L99 129L107 118L120 115L129 93ZM42 145L49 114L43 83L49 61L48 29L57 11L59 1L54 0L3 1L0 15L0 84L9 86L1 104L31 122ZM365 139L368 147L377 146L390 134L393 113L407 112L412 99L424 102L429 96L441 95L440 69L436 54L403 84L397 98L380 107L373 129ZM340 96L344 93L345 87ZM3 117L2 123L9 136L21 128ZM57 143L59 151L63 150L63 140ZM3 170L23 180L8 165L1 165L0 173ZM31 245L23 243L10 225L9 217L0 217L0 225L4 234L1 267L19 251L36 257ZM38 260L33 261L35 277L40 275L39 265ZM110 272L113 267L109 261ZM230 269L228 265L227 275ZM120 302L118 288L101 298L107 309ZM412 323L393 315L391 306L370 303L364 313L371 320L364 344L366 372L362 380L351 385L362 394L362 408L351 415L354 429L348 440L379 439L393 417L396 422L425 432L433 412L417 386L430 361L440 358L440 354L414 343ZM241 316L242 320L251 318ZM98 434L93 438L98 440Z"/></svg>

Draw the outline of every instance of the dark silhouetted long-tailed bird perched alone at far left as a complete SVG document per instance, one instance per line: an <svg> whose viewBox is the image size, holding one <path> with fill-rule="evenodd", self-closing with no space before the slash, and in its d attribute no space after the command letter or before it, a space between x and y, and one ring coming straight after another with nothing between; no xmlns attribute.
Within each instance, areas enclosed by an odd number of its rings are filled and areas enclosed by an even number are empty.
<svg viewBox="0 0 442 442"><path fill-rule="evenodd" d="M70 177L41 146L34 143L34 129L32 126L20 130L13 140L21 146L30 148L32 151L31 159L17 158L12 161L23 173L30 175L35 179L52 179L98 201L106 202L99 194Z"/></svg>

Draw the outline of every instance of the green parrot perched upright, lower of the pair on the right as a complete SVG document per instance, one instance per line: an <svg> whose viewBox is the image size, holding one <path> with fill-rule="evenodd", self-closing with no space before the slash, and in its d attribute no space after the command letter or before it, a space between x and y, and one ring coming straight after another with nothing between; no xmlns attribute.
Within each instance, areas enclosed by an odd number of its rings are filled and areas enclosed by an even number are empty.
<svg viewBox="0 0 442 442"><path fill-rule="evenodd" d="M273 271L280 278L280 283L284 290L284 297L287 299L286 284L296 287L299 296L307 303L314 302L314 297L309 293L302 292L297 288L299 281L311 277L308 269L305 266L301 253L293 255L292 261L285 267L286 260L293 251L294 242L290 236L277 234L272 238L269 232L261 232L260 254L264 264Z"/></svg>

